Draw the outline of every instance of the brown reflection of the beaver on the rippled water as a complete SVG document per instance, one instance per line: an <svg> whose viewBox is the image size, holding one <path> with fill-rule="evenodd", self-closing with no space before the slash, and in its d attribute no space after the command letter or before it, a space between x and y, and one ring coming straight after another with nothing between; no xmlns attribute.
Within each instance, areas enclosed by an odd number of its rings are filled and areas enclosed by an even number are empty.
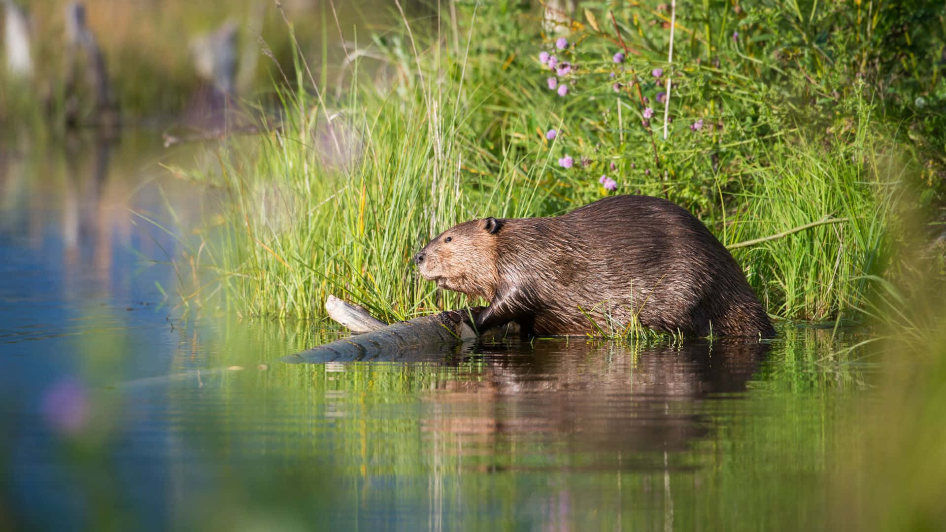
<svg viewBox="0 0 946 532"><path fill-rule="evenodd" d="M435 383L435 393L425 398L431 408L423 428L448 434L464 452L522 437L556 441L563 434L572 451L679 451L707 431L695 401L744 392L767 348L739 341L486 346L468 357L477 361L475 372L464 364ZM464 436L473 438L462 446Z"/></svg>

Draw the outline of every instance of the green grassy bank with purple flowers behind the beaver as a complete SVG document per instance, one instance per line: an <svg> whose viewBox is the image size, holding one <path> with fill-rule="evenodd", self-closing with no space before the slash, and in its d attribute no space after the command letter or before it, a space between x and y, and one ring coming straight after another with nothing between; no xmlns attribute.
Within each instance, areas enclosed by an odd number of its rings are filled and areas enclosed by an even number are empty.
<svg viewBox="0 0 946 532"><path fill-rule="evenodd" d="M770 313L856 318L865 279L887 271L898 190L930 205L942 185L942 83L922 47L938 23L904 34L913 11L792 6L589 3L553 34L512 8L445 10L432 31L405 21L354 44L383 58L352 63L370 82L328 98L319 72L296 69L283 127L192 174L224 191L196 263L247 314L321 317L336 293L407 318L465 303L410 263L451 224L645 193L727 244L843 219L735 255Z"/></svg>

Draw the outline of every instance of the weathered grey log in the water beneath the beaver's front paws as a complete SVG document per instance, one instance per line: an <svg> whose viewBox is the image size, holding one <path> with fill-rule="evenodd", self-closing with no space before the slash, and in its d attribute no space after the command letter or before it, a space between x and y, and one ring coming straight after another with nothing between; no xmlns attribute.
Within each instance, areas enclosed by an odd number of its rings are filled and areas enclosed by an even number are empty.
<svg viewBox="0 0 946 532"><path fill-rule="evenodd" d="M283 362L439 360L454 347L477 337L464 323L465 310L445 310L391 325L331 295L325 301L325 310L343 326L368 332L289 355Z"/></svg>

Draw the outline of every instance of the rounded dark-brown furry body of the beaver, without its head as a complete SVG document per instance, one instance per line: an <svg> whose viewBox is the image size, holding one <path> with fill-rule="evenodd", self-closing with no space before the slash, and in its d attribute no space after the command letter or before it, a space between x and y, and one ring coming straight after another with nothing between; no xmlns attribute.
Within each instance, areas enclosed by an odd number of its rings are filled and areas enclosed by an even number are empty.
<svg viewBox="0 0 946 532"><path fill-rule="evenodd" d="M699 336L774 333L726 247L666 200L614 196L508 220L499 237L499 275L534 309L537 333L594 332L586 312Z"/></svg>

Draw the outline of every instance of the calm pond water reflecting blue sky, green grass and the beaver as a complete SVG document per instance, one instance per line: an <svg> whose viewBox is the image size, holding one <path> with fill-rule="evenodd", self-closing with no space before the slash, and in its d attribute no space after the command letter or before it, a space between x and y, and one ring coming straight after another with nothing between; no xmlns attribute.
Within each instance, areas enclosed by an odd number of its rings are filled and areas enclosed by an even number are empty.
<svg viewBox="0 0 946 532"><path fill-rule="evenodd" d="M837 427L879 369L827 356L856 333L284 364L331 332L175 306L195 273L149 220L214 207L158 165L207 151L180 150L134 133L0 153L0 528L844 524Z"/></svg>

